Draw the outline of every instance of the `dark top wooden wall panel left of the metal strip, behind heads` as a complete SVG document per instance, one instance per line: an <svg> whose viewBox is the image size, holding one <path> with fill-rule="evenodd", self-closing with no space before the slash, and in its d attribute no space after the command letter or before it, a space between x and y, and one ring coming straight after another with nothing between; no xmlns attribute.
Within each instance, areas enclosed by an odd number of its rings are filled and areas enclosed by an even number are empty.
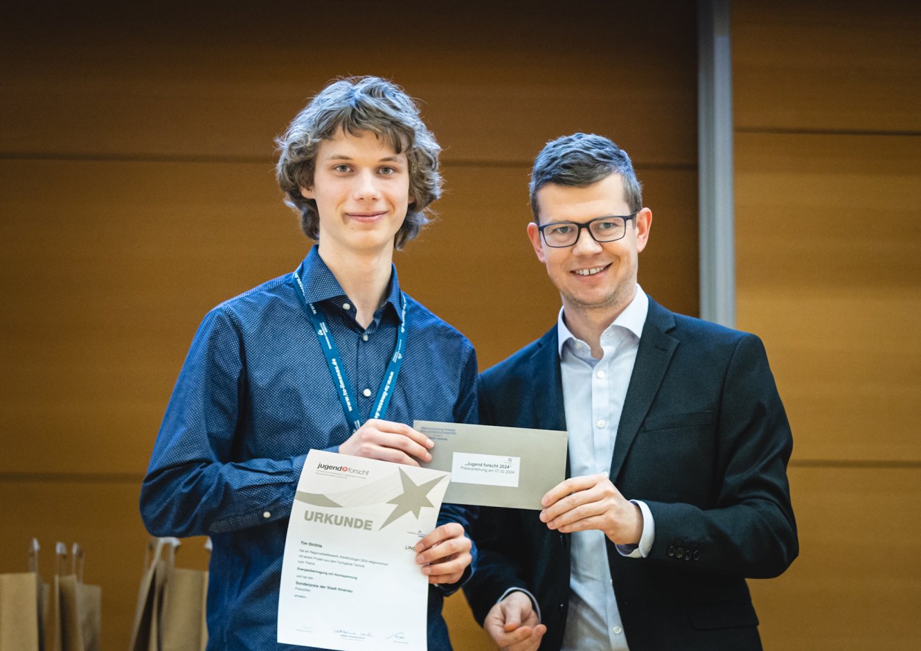
<svg viewBox="0 0 921 651"><path fill-rule="evenodd" d="M530 163L597 131L696 165L690 3L206 5L6 9L0 151L269 159L309 94L374 74L425 101L446 160Z"/></svg>

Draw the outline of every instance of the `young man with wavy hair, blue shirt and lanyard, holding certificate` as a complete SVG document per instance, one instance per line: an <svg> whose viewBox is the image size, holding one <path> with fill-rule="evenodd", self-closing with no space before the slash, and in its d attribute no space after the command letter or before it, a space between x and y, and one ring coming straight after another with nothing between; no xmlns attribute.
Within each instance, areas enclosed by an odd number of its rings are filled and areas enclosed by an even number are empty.
<svg viewBox="0 0 921 651"><path fill-rule="evenodd" d="M275 638L287 519L309 449L418 465L433 443L414 419L476 419L470 342L401 291L391 262L441 192L440 148L413 101L377 77L337 81L278 144L286 203L319 244L294 273L204 318L141 491L152 534L211 536L208 648L221 651L303 648ZM441 601L470 573L470 517L444 506L416 548L432 584L429 649L450 648Z"/></svg>

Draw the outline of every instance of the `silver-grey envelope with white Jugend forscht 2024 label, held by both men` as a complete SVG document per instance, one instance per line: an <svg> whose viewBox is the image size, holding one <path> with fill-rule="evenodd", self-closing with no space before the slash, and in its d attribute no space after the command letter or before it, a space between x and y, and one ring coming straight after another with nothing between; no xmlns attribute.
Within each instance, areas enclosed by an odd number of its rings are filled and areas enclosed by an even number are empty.
<svg viewBox="0 0 921 651"><path fill-rule="evenodd" d="M541 498L566 476L565 432L415 421L432 439L426 468L449 471L445 502L541 509Z"/></svg>

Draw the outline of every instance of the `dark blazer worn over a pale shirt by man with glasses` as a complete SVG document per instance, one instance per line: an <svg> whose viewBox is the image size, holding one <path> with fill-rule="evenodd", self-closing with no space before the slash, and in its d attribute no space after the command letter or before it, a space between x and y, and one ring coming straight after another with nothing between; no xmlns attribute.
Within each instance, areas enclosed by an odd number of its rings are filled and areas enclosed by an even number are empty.
<svg viewBox="0 0 921 651"><path fill-rule="evenodd" d="M480 376L480 420L565 429L555 325ZM745 577L779 575L799 552L792 448L761 340L650 298L610 473L656 526L647 558L607 545L631 651L761 648ZM547 529L538 511L483 511L479 565L464 588L474 616L482 624L508 587L525 587L547 625L541 649L559 649L569 536Z"/></svg>

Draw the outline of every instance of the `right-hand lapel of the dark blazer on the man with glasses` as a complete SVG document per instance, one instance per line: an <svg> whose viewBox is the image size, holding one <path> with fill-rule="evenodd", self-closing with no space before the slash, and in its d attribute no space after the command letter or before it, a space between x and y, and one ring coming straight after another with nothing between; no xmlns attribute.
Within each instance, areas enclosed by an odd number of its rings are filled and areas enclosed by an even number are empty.
<svg viewBox="0 0 921 651"><path fill-rule="evenodd" d="M617 426L617 439L614 441L609 475L612 482L616 482L617 475L620 474L627 452L639 432L639 426L659 392L671 355L678 347L678 340L667 334L674 327L674 315L650 298L643 335L636 351L633 375L630 377L627 395L624 398L624 411Z"/></svg>

